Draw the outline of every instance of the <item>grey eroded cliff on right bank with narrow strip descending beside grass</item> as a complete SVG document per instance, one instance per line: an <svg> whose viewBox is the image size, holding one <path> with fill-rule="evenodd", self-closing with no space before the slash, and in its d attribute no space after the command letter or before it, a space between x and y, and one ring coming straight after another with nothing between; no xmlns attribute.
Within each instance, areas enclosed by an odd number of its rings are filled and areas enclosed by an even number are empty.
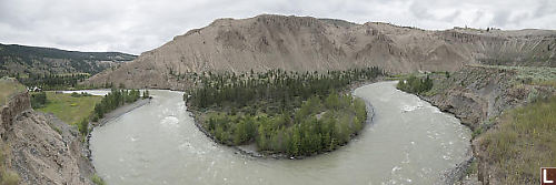
<svg viewBox="0 0 556 185"><path fill-rule="evenodd" d="M466 66L449 78L437 78L433 90L421 95L441 111L453 113L476 134L488 132L504 111L524 105L538 96L549 96L550 86L533 85L515 70L494 66ZM471 140L477 161L477 178L483 184L500 184L489 164L480 135Z"/></svg>

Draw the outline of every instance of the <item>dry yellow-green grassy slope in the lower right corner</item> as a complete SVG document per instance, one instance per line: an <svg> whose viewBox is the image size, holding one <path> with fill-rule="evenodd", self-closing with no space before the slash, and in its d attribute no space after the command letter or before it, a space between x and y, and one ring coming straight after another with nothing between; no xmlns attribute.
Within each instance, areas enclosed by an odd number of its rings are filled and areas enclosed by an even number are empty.
<svg viewBox="0 0 556 185"><path fill-rule="evenodd" d="M503 184L538 184L539 167L556 166L556 95L503 114L481 137Z"/></svg>

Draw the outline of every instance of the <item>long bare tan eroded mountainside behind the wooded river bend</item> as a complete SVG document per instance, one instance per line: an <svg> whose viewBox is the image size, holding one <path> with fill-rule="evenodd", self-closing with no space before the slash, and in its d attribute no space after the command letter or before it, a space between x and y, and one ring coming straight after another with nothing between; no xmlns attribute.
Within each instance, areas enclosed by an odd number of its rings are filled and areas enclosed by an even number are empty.
<svg viewBox="0 0 556 185"><path fill-rule="evenodd" d="M262 14L219 19L142 53L87 83L128 88L187 86L187 73L326 71L381 66L390 72L455 71L465 64L556 66L556 31L428 31L388 23L350 23ZM183 80L185 79L185 80Z"/></svg>

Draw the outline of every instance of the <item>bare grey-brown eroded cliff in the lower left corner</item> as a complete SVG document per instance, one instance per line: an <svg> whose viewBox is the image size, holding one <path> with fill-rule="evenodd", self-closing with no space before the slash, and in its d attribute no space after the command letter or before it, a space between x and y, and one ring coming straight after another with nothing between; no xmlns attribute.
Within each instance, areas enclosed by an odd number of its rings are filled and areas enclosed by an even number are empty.
<svg viewBox="0 0 556 185"><path fill-rule="evenodd" d="M93 168L81 155L76 129L53 115L34 112L27 92L1 109L2 142L10 146L8 166L21 184L92 184Z"/></svg>

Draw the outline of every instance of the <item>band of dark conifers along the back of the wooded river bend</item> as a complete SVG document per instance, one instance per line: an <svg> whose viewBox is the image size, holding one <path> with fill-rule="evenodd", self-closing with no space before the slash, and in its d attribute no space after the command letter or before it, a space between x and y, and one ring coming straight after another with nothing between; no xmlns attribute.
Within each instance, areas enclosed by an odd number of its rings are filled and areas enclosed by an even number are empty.
<svg viewBox="0 0 556 185"><path fill-rule="evenodd" d="M347 71L286 72L270 70L262 73L224 73L201 75L200 88L187 93L192 106L206 109L209 106L241 107L260 100L269 102L287 102L307 100L312 95L327 95L357 82L383 75L378 68L353 69ZM299 104L297 104L299 105ZM281 107L286 109L286 107Z"/></svg>

